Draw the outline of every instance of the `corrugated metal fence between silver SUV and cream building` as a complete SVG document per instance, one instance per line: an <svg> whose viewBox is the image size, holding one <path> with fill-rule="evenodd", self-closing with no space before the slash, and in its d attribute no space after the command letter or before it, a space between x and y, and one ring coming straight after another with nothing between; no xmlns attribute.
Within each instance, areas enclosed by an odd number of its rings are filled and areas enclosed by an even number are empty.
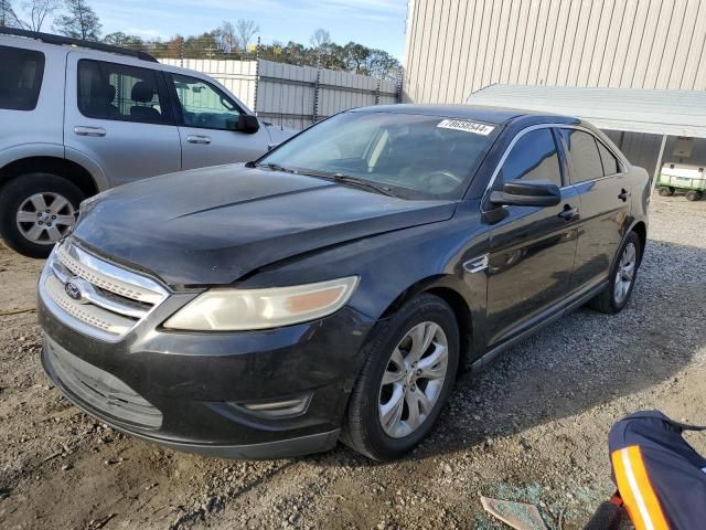
<svg viewBox="0 0 706 530"><path fill-rule="evenodd" d="M303 129L347 108L399 103L393 81L270 61L162 59L208 74L264 119Z"/></svg>

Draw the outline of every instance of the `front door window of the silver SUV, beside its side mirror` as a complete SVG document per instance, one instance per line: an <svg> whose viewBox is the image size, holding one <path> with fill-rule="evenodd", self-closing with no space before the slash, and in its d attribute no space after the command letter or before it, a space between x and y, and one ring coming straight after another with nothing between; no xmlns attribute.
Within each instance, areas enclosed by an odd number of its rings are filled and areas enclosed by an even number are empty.
<svg viewBox="0 0 706 530"><path fill-rule="evenodd" d="M181 105L181 123L188 127L233 130L240 109L226 94L196 77L172 74Z"/></svg>

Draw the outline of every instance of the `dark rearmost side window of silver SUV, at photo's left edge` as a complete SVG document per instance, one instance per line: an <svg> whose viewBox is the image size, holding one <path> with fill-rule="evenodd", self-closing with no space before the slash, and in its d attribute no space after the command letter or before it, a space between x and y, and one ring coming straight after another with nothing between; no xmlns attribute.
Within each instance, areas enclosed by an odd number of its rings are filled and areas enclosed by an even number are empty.
<svg viewBox="0 0 706 530"><path fill-rule="evenodd" d="M44 76L44 54L0 46L0 108L34 110Z"/></svg>

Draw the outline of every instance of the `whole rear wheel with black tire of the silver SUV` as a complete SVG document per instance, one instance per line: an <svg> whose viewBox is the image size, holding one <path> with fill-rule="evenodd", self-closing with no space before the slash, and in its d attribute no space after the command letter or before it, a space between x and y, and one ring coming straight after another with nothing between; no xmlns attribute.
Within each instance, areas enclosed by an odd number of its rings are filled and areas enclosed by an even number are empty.
<svg viewBox="0 0 706 530"><path fill-rule="evenodd" d="M46 257L56 240L71 231L84 198L75 184L56 174L20 174L0 189L0 237L20 254ZM40 211L42 205L49 212ZM36 221L30 219L34 212Z"/></svg>

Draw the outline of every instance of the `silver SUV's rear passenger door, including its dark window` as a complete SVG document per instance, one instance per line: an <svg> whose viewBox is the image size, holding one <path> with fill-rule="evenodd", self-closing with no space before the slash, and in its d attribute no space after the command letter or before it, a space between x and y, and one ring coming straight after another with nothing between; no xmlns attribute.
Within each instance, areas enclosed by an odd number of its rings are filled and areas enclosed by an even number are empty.
<svg viewBox="0 0 706 530"><path fill-rule="evenodd" d="M158 64L72 52L66 68L67 158L88 158L109 186L181 169L179 131Z"/></svg>

